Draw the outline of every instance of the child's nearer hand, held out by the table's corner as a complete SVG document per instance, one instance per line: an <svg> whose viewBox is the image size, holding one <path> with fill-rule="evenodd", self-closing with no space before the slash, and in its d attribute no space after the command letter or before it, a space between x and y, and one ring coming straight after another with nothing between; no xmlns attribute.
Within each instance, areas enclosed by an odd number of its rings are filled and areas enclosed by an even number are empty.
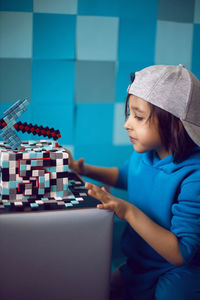
<svg viewBox="0 0 200 300"><path fill-rule="evenodd" d="M108 193L104 187L100 188L89 182L85 183L85 187L86 189L88 189L88 194L90 196L101 201L101 204L97 205L98 208L113 210L118 218L126 219L126 215L131 205L130 203L120 198L114 197L113 195Z"/></svg>

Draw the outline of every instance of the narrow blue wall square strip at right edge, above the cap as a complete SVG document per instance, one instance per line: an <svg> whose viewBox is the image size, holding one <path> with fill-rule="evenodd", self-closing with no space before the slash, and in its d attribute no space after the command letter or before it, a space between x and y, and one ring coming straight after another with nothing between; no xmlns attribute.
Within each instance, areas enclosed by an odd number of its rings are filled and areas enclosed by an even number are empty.
<svg viewBox="0 0 200 300"><path fill-rule="evenodd" d="M192 49L192 72L200 80L200 24L194 25L193 49Z"/></svg>

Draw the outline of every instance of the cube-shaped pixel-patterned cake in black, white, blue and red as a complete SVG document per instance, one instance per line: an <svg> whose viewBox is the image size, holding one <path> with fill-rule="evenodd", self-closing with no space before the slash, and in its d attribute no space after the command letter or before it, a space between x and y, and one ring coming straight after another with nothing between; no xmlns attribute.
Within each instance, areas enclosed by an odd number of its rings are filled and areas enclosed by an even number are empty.
<svg viewBox="0 0 200 300"><path fill-rule="evenodd" d="M54 141L23 141L18 151L0 143L0 200L68 196L68 153Z"/></svg>

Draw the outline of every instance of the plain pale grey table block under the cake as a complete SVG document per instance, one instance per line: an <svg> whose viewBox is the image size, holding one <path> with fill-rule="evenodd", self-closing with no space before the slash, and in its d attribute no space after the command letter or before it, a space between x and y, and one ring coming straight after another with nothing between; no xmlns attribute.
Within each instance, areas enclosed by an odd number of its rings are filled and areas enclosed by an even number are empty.
<svg viewBox="0 0 200 300"><path fill-rule="evenodd" d="M113 213L0 215L1 300L106 300Z"/></svg>

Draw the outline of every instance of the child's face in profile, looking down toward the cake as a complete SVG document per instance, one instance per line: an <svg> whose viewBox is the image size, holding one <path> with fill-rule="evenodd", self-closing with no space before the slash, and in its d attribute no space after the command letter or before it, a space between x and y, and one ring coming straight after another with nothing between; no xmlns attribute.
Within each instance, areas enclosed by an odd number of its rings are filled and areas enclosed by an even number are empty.
<svg viewBox="0 0 200 300"><path fill-rule="evenodd" d="M148 102L134 95L129 96L129 116L124 124L128 130L134 150L139 153L154 149L159 158L169 155L161 143L158 120L150 117L151 106Z"/></svg>

